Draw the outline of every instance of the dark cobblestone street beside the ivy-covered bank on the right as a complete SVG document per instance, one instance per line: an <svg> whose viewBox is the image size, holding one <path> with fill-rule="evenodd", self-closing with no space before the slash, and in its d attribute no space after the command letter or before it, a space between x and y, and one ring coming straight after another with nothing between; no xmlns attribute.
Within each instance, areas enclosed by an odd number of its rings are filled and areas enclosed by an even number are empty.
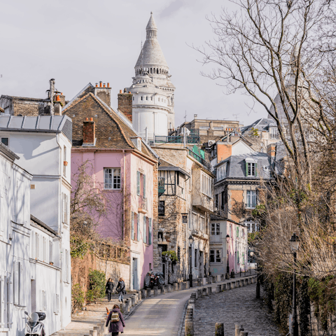
<svg viewBox="0 0 336 336"><path fill-rule="evenodd" d="M235 288L196 300L195 335L215 335L215 323L224 323L225 336L235 336L235 323L248 336L280 336L262 300L255 300L255 285Z"/></svg>

